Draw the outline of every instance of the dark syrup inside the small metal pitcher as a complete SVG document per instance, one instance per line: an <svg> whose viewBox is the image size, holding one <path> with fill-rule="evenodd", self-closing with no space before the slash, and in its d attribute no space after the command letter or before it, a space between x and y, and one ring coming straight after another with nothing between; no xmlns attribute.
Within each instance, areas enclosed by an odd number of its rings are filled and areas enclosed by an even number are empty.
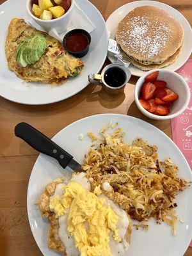
<svg viewBox="0 0 192 256"><path fill-rule="evenodd" d="M117 67L109 68L104 74L104 81L111 87L118 87L125 83L125 72Z"/></svg>

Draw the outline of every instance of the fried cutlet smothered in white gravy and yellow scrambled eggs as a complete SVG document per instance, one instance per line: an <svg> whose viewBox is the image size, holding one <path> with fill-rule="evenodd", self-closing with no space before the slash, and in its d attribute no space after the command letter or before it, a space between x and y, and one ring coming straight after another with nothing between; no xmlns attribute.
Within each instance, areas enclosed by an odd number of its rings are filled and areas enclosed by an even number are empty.
<svg viewBox="0 0 192 256"><path fill-rule="evenodd" d="M126 255L131 220L100 186L92 191L86 173L53 180L36 205L51 223L49 248L67 256Z"/></svg>

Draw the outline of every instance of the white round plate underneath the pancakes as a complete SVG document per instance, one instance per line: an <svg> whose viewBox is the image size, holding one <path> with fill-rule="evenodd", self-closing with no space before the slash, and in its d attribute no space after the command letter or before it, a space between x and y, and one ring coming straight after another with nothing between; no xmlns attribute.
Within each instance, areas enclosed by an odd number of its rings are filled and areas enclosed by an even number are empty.
<svg viewBox="0 0 192 256"><path fill-rule="evenodd" d="M190 26L188 20L186 20L186 18L180 12L178 12L177 10L175 10L174 8L172 8L171 6L169 6L167 4L163 4L160 2L156 2L156 1L135 1L135 2L131 2L131 3L121 6L120 8L115 10L115 12L113 12L109 16L108 20L106 21L106 24L108 27L109 38L113 38L113 39L115 38L116 27L117 27L118 23L122 19L124 19L125 15L127 15L127 13L131 12L134 8L136 8L138 6L143 6L143 5L156 6L156 7L160 8L161 10L168 12L170 14L170 16L172 16L175 20L179 21L180 24L182 25L182 27L184 29L184 42L182 45L182 50L180 51L179 57L172 65L169 65L168 67L164 67L168 70L173 70L173 71L179 69L180 67L182 67L182 65L184 65L184 63L186 63L189 56L191 55L192 29L191 29L191 26ZM111 56L108 56L108 59L112 63L116 62L116 59ZM140 77L140 76L143 76L143 74L145 74L145 71L142 71L139 68L134 67L133 65L129 66L129 70L131 71L131 74L133 76Z"/></svg>

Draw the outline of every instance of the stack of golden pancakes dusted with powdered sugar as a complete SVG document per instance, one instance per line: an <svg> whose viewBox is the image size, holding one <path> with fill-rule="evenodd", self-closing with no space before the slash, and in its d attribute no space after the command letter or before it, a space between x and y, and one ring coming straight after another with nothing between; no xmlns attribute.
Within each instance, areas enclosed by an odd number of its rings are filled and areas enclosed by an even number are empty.
<svg viewBox="0 0 192 256"><path fill-rule="evenodd" d="M140 6L118 24L116 42L141 70L163 68L179 56L184 31L177 20L154 6Z"/></svg>

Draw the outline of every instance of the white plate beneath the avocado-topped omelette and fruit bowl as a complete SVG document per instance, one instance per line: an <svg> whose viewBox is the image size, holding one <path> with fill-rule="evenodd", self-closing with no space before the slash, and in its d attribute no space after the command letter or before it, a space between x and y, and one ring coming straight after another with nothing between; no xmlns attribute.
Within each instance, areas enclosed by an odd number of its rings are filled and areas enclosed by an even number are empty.
<svg viewBox="0 0 192 256"><path fill-rule="evenodd" d="M91 33L92 44L86 56L82 58L84 68L74 79L68 79L61 86L50 84L24 83L7 67L4 43L8 25L14 17L28 19L26 0L8 0L0 5L0 95L22 104L49 104L67 99L83 90L88 83L88 74L99 72L108 51L108 33L106 23L99 10L87 0L76 0L81 9L92 20L95 30Z"/></svg>

